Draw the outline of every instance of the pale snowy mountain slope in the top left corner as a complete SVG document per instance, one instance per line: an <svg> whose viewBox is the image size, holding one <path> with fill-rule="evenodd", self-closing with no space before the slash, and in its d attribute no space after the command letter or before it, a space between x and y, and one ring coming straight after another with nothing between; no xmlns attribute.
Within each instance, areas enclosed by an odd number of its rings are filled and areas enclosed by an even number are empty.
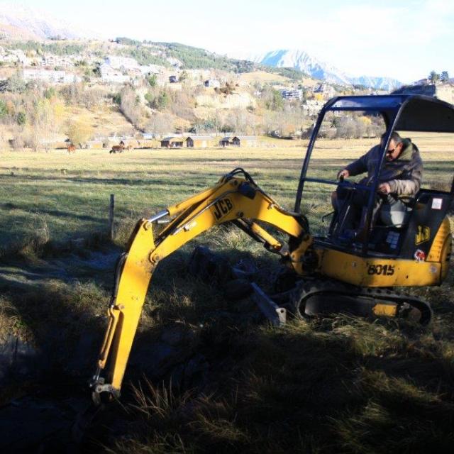
<svg viewBox="0 0 454 454"><path fill-rule="evenodd" d="M69 21L54 18L45 11L32 9L22 4L0 3L0 28L27 31L38 38L95 38L96 33ZM11 35L11 38L20 38Z"/></svg>

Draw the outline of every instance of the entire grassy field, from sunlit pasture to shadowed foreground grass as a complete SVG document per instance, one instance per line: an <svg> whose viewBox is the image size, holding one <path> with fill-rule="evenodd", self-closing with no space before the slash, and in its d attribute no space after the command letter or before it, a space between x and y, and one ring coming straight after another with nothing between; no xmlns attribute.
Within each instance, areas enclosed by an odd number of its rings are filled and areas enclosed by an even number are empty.
<svg viewBox="0 0 454 454"><path fill-rule="evenodd" d="M426 185L445 187L453 176L445 138L420 135L414 141L425 162ZM314 175L335 175L374 144L374 139L322 141L314 151ZM68 358L81 338L104 330L111 269L81 264L111 248L102 238L90 243L107 231L110 194L116 196L115 242L121 247L138 218L209 187L234 167L244 167L292 209L304 154L302 146L121 155L1 152L0 338L13 333L47 345L49 360L65 372L65 380L86 380L97 352L77 372ZM304 209L319 222L330 211L322 195L332 187L308 189ZM65 244L77 238L87 239L88 246L68 253ZM231 262L254 260L262 284L277 271L274 256L233 228L213 229L196 243ZM167 258L153 277L136 360L126 375L124 407L106 420L114 430L104 421L92 432L94 452L99 443L115 453L452 452L453 272L441 287L415 290L433 306L427 328L336 316L277 329L256 315L251 301L230 301L215 284L189 277L185 264L193 245ZM26 272L35 282L5 284L9 275ZM146 360L140 364L137 358L150 358L148 346L162 343L169 330L180 333L175 358L168 360L165 377L156 378L148 374ZM192 381L175 384L182 364L196 372ZM2 390L0 400L23 393L21 387Z"/></svg>

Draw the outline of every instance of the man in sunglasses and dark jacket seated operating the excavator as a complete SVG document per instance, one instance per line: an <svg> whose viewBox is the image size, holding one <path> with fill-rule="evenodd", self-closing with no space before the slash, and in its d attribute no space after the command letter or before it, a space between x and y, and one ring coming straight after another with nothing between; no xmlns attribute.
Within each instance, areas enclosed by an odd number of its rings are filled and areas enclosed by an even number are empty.
<svg viewBox="0 0 454 454"><path fill-rule="evenodd" d="M371 184L375 169L377 165L380 165L380 150L384 139L385 135L382 135L379 145L375 145L365 155L338 172L338 179L367 172L367 177L363 178L360 184ZM375 197L372 212L372 225L378 216L386 226L399 227L406 223L409 211L411 211L411 199L421 187L422 172L423 162L416 145L409 138L402 139L398 133L392 133L387 148L386 162L380 172L378 194ZM363 233L365 207L369 193L363 189L356 189L352 194L351 189L338 187L333 192L333 207L338 214L342 212L349 196L351 197L350 213L345 219L343 237L355 239ZM358 228L355 229L355 226Z"/></svg>

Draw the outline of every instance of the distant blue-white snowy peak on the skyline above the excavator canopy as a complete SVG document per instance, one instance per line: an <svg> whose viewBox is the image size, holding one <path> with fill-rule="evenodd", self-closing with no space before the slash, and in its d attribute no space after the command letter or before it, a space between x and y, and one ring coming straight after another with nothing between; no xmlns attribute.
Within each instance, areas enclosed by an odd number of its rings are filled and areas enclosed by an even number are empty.
<svg viewBox="0 0 454 454"><path fill-rule="evenodd" d="M247 60L273 67L297 68L315 79L325 80L331 84L358 84L364 85L365 87L384 90L396 89L402 85L401 82L396 79L391 79L390 77L354 77L338 70L338 68L333 67L333 65L317 60L307 52L304 52L304 50L272 50L262 55L249 55Z"/></svg>

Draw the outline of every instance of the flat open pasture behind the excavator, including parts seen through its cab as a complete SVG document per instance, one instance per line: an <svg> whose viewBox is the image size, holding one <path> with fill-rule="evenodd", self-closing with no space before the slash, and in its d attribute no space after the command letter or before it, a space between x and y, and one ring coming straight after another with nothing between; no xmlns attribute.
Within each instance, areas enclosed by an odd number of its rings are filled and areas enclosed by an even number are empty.
<svg viewBox="0 0 454 454"><path fill-rule="evenodd" d="M424 183L450 187L452 167L448 138L421 136ZM62 243L106 232L110 194L116 199L116 232L124 240L138 218L215 184L225 173L243 167L287 209L294 207L306 141L268 139L262 148L210 150L107 150L50 153L0 153L0 254L30 242ZM338 170L375 145L375 139L321 140L314 150L310 176L335 179ZM430 146L430 148L429 148ZM312 220L328 213L333 187L307 184L303 201ZM317 228L318 228L317 227Z"/></svg>

